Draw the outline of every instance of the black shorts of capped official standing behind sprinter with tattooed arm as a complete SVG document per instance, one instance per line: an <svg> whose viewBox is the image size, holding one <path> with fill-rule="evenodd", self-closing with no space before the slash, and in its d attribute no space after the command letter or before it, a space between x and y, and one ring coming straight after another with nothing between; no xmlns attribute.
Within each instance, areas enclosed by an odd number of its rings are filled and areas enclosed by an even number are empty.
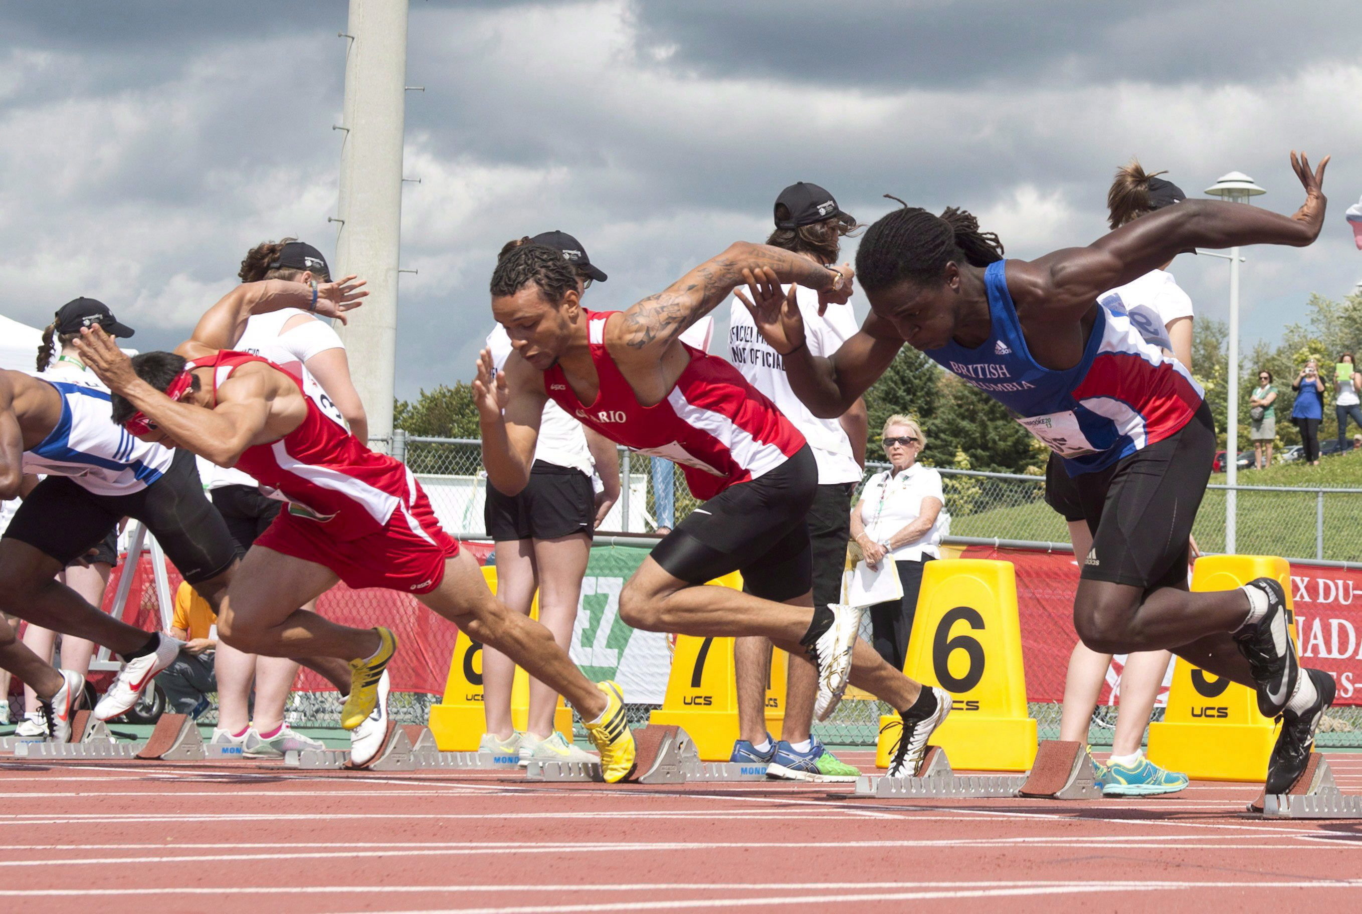
<svg viewBox="0 0 1362 914"><path fill-rule="evenodd" d="M488 535L508 539L557 539L595 529L595 489L576 467L535 460L520 494L501 494L490 485L482 508Z"/></svg>

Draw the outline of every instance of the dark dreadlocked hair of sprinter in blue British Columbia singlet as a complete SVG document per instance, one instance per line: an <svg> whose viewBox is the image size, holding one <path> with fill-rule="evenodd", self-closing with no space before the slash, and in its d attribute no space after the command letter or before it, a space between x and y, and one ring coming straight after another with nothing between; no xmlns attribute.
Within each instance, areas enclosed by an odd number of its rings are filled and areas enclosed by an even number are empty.
<svg viewBox="0 0 1362 914"><path fill-rule="evenodd" d="M877 291L904 279L938 279L945 264L952 262L986 267L1001 259L998 236L981 232L979 221L970 212L947 207L941 215L932 215L904 203L866 230L855 252L855 272L866 291Z"/></svg>

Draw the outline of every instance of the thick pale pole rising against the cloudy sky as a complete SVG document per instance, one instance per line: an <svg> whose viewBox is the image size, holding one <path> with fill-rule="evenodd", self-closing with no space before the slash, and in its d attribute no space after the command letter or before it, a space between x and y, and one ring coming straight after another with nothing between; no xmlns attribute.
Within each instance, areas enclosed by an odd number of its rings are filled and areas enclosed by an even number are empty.
<svg viewBox="0 0 1362 914"><path fill-rule="evenodd" d="M339 327L369 436L392 435L406 121L407 0L350 0L336 278L368 279L364 308Z"/></svg>

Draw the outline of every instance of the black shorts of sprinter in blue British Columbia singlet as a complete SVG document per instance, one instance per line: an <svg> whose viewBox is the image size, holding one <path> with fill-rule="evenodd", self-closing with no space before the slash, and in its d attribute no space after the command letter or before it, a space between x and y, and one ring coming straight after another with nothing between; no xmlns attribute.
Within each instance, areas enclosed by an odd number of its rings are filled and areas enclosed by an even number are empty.
<svg viewBox="0 0 1362 914"><path fill-rule="evenodd" d="M1092 552L1079 558L1083 576L1145 591L1186 590L1188 539L1214 459L1215 424L1203 402L1173 437L1073 477L1092 531Z"/></svg>

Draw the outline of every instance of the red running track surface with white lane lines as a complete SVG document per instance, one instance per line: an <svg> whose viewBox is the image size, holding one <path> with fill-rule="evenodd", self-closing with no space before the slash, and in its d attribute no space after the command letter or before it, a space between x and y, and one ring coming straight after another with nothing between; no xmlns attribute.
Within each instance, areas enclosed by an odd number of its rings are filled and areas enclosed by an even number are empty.
<svg viewBox="0 0 1362 914"><path fill-rule="evenodd" d="M873 764L870 753L843 753ZM1362 793L1362 756L1331 756ZM1362 821L1174 797L854 800L849 785L0 761L5 911L1357 911Z"/></svg>

